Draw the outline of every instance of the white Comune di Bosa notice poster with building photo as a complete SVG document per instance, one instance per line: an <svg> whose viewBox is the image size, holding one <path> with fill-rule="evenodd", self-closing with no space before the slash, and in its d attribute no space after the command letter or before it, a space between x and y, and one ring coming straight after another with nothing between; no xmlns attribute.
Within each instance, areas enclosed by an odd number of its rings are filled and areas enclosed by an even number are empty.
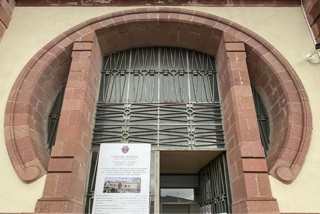
<svg viewBox="0 0 320 214"><path fill-rule="evenodd" d="M101 143L93 214L149 214L151 145Z"/></svg>

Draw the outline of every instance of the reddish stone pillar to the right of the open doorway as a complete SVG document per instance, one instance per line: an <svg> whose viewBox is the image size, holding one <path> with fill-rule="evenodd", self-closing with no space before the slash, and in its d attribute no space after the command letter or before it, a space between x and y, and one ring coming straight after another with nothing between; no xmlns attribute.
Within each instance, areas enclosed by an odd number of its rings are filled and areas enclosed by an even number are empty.
<svg viewBox="0 0 320 214"><path fill-rule="evenodd" d="M229 36L228 40L233 41ZM243 42L235 43L228 40L225 41L222 38L220 43L217 52L217 69L220 71L218 78L221 91L227 91L222 94L221 101L224 112L225 141L228 148L227 157L231 166L232 211L234 213L277 213L279 208L271 193L268 168L256 125L251 87L249 82L239 81L249 79L245 46ZM237 58L237 54L242 57ZM245 101L245 104L243 105L241 101ZM249 148L255 147L258 155L250 155L248 145ZM255 197L256 200L251 201L251 197ZM271 207L261 206L261 200L264 204L270 204ZM258 209L254 209L256 207Z"/></svg>

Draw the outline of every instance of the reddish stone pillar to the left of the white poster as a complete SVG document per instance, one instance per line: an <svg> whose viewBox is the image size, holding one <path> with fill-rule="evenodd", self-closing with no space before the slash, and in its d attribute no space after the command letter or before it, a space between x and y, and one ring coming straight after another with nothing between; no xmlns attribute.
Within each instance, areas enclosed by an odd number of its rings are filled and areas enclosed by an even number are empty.
<svg viewBox="0 0 320 214"><path fill-rule="evenodd" d="M91 38L91 42L75 42L73 45L57 143L52 148L49 175L43 196L36 204L36 212L75 213L83 210L86 174L81 169L87 168L88 163L94 123L94 118L89 115L94 115L95 111L96 85L102 61L95 34ZM83 93L74 93L79 90Z"/></svg>

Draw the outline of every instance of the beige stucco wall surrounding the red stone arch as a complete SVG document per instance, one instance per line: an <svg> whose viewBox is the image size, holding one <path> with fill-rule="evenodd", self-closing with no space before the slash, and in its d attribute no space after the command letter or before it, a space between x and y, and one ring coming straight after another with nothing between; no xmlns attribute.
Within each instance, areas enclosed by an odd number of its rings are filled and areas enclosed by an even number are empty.
<svg viewBox="0 0 320 214"><path fill-rule="evenodd" d="M65 30L87 19L133 7L16 7L0 43L0 112L15 78L29 59L47 42ZM310 99L314 133L305 165L299 177L285 185L270 176L272 192L280 211L295 213L320 212L320 65L304 60L312 38L299 7L185 7L222 16L241 24L274 45L300 76ZM0 124L3 124L0 113ZM3 125L0 125L0 212L34 212L41 197L45 176L24 184L16 176L8 158Z"/></svg>

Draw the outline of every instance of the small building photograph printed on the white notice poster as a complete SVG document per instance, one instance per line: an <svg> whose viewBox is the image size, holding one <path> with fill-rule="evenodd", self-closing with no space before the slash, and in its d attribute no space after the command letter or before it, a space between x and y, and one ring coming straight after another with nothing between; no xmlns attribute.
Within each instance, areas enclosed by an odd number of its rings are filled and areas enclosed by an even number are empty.
<svg viewBox="0 0 320 214"><path fill-rule="evenodd" d="M141 178L104 178L103 193L140 193Z"/></svg>

